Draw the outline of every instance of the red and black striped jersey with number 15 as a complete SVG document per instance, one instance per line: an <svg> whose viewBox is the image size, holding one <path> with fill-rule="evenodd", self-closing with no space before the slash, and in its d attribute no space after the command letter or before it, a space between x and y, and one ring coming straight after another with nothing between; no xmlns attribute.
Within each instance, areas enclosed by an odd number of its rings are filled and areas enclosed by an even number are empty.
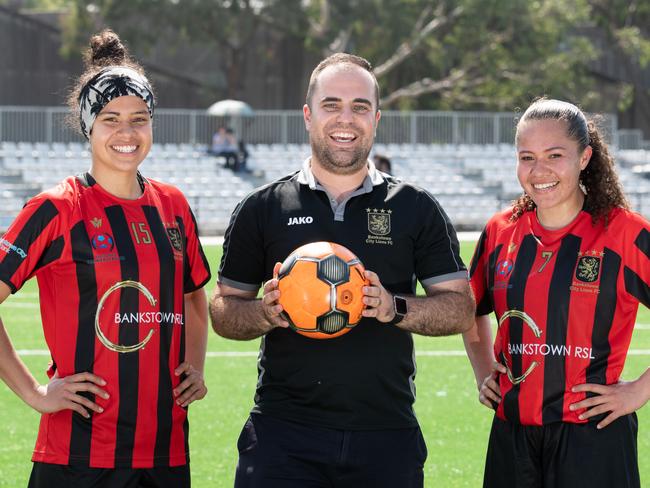
<svg viewBox="0 0 650 488"><path fill-rule="evenodd" d="M185 349L184 294L210 277L187 201L146 180L117 198L89 174L31 199L0 239L0 280L36 276L48 374L106 380L104 412L44 414L33 461L97 468L188 462L187 411L172 389Z"/></svg>

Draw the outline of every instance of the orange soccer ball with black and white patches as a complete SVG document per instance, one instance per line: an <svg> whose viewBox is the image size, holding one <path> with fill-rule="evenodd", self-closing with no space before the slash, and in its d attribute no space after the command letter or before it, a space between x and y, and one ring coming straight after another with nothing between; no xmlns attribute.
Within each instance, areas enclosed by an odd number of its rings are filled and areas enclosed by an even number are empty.
<svg viewBox="0 0 650 488"><path fill-rule="evenodd" d="M299 334L333 339L361 320L365 268L352 251L312 242L293 251L278 273L282 317Z"/></svg>

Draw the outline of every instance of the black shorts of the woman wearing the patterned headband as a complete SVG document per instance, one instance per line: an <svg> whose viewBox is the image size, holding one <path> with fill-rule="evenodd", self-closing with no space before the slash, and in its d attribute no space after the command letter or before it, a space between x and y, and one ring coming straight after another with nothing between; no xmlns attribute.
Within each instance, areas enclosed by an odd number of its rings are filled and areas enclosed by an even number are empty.
<svg viewBox="0 0 650 488"><path fill-rule="evenodd" d="M34 463L28 488L190 488L190 466L87 468Z"/></svg>

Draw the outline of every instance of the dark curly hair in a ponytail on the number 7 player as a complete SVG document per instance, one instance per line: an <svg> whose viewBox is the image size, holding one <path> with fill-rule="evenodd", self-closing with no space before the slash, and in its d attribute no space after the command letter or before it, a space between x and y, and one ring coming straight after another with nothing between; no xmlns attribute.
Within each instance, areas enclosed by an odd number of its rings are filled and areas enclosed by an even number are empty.
<svg viewBox="0 0 650 488"><path fill-rule="evenodd" d="M580 182L586 190L584 208L591 214L594 225L601 219L607 225L609 213L616 207L629 208L614 169L614 158L594 120L587 120L584 113L571 103L540 98L526 109L517 122L515 141L519 128L529 120L561 120L566 124L567 135L578 143L580 151L591 146L591 159L580 172ZM513 202L510 220L517 220L524 212L530 212L535 207L533 199L524 193Z"/></svg>

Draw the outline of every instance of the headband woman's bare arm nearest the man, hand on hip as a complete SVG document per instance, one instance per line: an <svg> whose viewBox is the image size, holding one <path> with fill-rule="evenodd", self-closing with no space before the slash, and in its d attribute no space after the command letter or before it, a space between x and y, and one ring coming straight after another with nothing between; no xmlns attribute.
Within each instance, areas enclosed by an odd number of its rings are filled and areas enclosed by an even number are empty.
<svg viewBox="0 0 650 488"><path fill-rule="evenodd" d="M176 403L187 407L208 393L203 378L208 343L208 299L203 288L185 294L185 361L174 371L185 375L174 388Z"/></svg>

